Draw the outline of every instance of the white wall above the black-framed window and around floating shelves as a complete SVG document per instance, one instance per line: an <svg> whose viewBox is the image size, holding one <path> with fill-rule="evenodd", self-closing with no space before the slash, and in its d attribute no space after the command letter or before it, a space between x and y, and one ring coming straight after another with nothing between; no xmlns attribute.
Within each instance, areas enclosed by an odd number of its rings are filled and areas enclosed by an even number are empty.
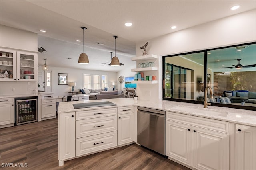
<svg viewBox="0 0 256 170"><path fill-rule="evenodd" d="M178 25L177 25L178 26ZM256 10L243 12L230 17L215 20L209 23L163 35L148 40L147 53L158 56L184 53L210 49L214 47L224 47L240 43L256 41ZM136 55L141 56L143 51L140 49L146 41L136 44ZM160 57L161 58L161 57ZM160 59L162 61L162 59ZM160 64L160 73L162 65ZM154 94L158 88L158 98L162 98L162 80L159 80L158 87L154 85L143 86L140 88L141 94L150 91ZM137 86L138 87L138 86ZM148 96L150 98L150 96Z"/></svg>

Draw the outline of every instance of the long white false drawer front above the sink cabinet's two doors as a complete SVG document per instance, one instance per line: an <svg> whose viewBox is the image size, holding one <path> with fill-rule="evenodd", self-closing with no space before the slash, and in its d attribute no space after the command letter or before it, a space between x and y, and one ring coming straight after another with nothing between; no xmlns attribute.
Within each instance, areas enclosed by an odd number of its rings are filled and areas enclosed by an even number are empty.
<svg viewBox="0 0 256 170"><path fill-rule="evenodd" d="M229 122L166 111L166 120L229 133Z"/></svg>

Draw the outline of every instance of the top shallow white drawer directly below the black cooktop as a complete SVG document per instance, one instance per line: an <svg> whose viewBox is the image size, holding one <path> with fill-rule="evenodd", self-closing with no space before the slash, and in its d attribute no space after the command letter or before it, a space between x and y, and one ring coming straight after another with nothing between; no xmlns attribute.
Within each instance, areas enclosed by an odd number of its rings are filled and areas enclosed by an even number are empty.
<svg viewBox="0 0 256 170"><path fill-rule="evenodd" d="M76 111L76 120L117 115L117 108Z"/></svg>

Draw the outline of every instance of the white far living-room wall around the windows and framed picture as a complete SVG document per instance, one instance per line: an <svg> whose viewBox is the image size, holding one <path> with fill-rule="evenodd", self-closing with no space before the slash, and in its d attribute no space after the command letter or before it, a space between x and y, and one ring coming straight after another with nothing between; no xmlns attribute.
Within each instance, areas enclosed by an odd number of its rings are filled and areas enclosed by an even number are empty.
<svg viewBox="0 0 256 170"><path fill-rule="evenodd" d="M38 70L42 70L42 66L38 67ZM72 69L72 68L61 68L61 67L48 67L48 71L52 71L52 92L54 96L65 96L68 95L71 91L70 82L76 82L74 87L75 91L78 91L78 88L83 88L84 74L91 75L91 86L93 86L93 75L100 76L100 86L102 75L108 76L108 87L112 87L112 82L118 82L116 72L107 72L107 71L97 71L97 70L82 70L82 69ZM58 85L58 73L68 74L68 85Z"/></svg>

